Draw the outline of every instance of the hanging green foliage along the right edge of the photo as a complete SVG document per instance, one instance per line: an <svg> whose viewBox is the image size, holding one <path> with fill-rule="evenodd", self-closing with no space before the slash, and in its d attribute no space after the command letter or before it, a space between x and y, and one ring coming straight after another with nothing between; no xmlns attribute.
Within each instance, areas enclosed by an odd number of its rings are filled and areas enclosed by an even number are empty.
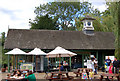
<svg viewBox="0 0 120 81"><path fill-rule="evenodd" d="M119 27L118 27L118 16L120 12L118 11L119 9L119 2L112 2L112 3L107 3L108 5L108 12L109 15L112 17L111 21L113 24L113 32L115 35L115 56L120 59L120 53L119 53Z"/></svg>

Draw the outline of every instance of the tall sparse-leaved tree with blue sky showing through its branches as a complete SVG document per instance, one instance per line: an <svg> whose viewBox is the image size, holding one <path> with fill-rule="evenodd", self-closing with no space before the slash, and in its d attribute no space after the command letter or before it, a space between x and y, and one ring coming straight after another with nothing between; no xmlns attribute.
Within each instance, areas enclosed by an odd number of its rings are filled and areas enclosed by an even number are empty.
<svg viewBox="0 0 120 81"><path fill-rule="evenodd" d="M48 14L61 30L75 30L75 18L82 17L84 13L90 13L92 10L92 5L88 2L49 2L36 7L35 14L36 17Z"/></svg>

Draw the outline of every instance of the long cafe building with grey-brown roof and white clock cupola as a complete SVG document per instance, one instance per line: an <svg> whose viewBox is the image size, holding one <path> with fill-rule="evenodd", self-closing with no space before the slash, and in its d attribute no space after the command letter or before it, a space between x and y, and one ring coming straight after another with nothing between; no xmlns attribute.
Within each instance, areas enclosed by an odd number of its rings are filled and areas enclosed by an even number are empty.
<svg viewBox="0 0 120 81"><path fill-rule="evenodd" d="M57 46L61 46L77 54L71 57L71 59L67 57L62 58L68 64L71 62L72 68L85 67L84 63L90 59L90 55L94 55L98 60L98 65L103 66L105 56L114 55L115 36L112 32L94 31L93 20L94 18L89 16L85 17L82 20L82 31L9 29L4 49L9 51L19 48L25 52L29 52L37 47L48 53ZM13 58L14 56L11 55L10 57ZM49 60L54 65L57 63L58 58L49 58ZM71 61L69 62L69 60ZM48 65L48 58L45 56L19 55L17 62L20 61L33 63L34 65L37 63L36 67L38 71L41 71L41 61L44 61L42 62L44 63L42 71Z"/></svg>

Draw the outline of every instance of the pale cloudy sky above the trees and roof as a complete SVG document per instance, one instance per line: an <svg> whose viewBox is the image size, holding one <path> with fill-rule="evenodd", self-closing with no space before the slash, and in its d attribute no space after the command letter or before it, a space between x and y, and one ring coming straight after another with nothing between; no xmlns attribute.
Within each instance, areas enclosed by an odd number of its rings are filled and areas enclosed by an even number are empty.
<svg viewBox="0 0 120 81"><path fill-rule="evenodd" d="M49 0L50 1L50 0ZM0 0L0 33L9 29L29 29L29 19L35 18L35 7L48 0ZM84 1L84 0L82 0ZM86 0L101 12L107 9L105 0Z"/></svg>

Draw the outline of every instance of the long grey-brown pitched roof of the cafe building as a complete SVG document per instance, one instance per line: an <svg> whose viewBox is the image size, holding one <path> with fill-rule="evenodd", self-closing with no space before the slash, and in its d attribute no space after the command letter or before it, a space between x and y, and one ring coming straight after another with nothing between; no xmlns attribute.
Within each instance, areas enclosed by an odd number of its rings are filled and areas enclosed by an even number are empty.
<svg viewBox="0 0 120 81"><path fill-rule="evenodd" d="M82 31L9 29L5 49L99 49L114 50L115 37L111 32L95 32L93 36Z"/></svg>

